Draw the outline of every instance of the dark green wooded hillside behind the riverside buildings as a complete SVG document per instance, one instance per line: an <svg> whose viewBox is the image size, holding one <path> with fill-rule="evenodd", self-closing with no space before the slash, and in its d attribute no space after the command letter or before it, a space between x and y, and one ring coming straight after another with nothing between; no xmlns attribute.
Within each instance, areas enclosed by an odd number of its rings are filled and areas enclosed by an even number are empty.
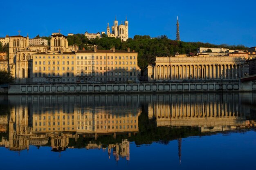
<svg viewBox="0 0 256 170"><path fill-rule="evenodd" d="M243 45L229 46L227 44L214 45L202 42L177 42L170 40L166 35L158 38L150 38L148 35L135 35L134 38L129 38L127 42L121 42L120 39L104 37L88 40L84 34L76 34L67 37L69 45L77 44L79 49L89 49L91 45L97 45L98 49L110 49L115 46L115 49L125 50L130 47L131 50L138 52L138 65L144 68L147 64L155 60L155 56L174 55L174 52L180 54L197 53L198 47L215 47L228 49L248 49Z"/></svg>

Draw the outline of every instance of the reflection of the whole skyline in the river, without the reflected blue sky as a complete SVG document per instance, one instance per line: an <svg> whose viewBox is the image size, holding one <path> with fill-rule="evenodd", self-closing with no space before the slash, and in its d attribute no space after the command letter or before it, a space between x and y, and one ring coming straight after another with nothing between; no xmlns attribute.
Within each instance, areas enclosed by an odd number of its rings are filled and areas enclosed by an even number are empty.
<svg viewBox="0 0 256 170"><path fill-rule="evenodd" d="M254 127L254 94L42 95L2 97L0 146L29 150L30 145L103 149L118 161L130 160L130 142L148 144ZM243 98L243 102L241 102ZM4 109L8 106L8 109ZM191 129L182 135L182 128ZM173 129L178 130L173 133ZM180 131L179 131L180 129ZM177 132L180 132L177 133ZM5 134L5 135L4 135ZM147 136L145 138L145 136ZM151 137L151 138L150 138ZM150 141L145 141L145 139Z"/></svg>

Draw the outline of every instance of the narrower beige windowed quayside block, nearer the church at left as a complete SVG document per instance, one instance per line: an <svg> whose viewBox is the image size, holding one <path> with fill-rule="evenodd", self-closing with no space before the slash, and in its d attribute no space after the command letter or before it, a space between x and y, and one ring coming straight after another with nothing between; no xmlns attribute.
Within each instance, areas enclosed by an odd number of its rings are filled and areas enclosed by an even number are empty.
<svg viewBox="0 0 256 170"><path fill-rule="evenodd" d="M58 48L62 48L59 46ZM33 82L76 82L76 54L46 51L33 55Z"/></svg>

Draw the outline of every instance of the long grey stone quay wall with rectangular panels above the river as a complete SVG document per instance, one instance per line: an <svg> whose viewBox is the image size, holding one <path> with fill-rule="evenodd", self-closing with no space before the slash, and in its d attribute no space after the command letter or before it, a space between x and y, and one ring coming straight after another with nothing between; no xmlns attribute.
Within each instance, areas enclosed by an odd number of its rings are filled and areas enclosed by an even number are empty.
<svg viewBox="0 0 256 170"><path fill-rule="evenodd" d="M250 82L171 82L119 84L9 84L8 94L63 93L171 93L171 92L239 92L256 91Z"/></svg>

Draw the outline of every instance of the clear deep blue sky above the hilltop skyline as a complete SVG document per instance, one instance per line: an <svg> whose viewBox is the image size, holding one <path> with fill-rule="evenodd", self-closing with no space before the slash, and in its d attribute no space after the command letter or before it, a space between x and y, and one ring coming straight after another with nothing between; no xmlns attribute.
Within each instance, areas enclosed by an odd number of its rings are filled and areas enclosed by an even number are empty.
<svg viewBox="0 0 256 170"><path fill-rule="evenodd" d="M185 42L256 46L255 0L5 0L0 4L0 37L34 38L53 32L97 33L129 21L129 37L167 35L175 39L179 16L180 38Z"/></svg>

